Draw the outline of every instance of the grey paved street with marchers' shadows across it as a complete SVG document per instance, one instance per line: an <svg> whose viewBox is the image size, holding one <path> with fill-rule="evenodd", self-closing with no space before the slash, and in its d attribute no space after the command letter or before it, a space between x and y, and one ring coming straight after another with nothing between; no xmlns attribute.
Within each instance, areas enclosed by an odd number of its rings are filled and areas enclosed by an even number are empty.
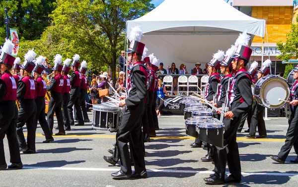
<svg viewBox="0 0 298 187"><path fill-rule="evenodd" d="M91 119L91 113L89 118ZM157 137L146 143L146 165L149 178L140 180L113 180L111 173L119 165L109 166L102 156L115 143L115 133L91 130L91 124L73 126L66 136L55 136L55 141L44 144L42 129L38 125L36 154L21 155L23 170L0 171L1 187L198 187L206 186L203 178L212 174L214 165L200 158L206 148L190 148L194 138L185 134L183 116L161 116ZM245 129L247 125L244 126ZM241 184L221 186L263 187L298 184L298 165L290 163L296 158L294 149L285 164L273 163L269 158L278 154L284 143L287 119L271 118L266 121L268 139L246 139L247 133L238 134L242 167ZM56 130L55 130L56 131ZM55 133L54 131L54 133ZM257 133L258 135L258 133ZM9 151L4 139L6 162Z"/></svg>

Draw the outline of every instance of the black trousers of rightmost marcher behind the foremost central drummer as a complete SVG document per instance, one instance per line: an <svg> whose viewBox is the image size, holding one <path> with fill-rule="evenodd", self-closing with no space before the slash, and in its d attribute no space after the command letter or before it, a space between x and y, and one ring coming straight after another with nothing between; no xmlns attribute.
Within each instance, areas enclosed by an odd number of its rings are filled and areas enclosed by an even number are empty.
<svg viewBox="0 0 298 187"><path fill-rule="evenodd" d="M150 131L149 134L151 136L156 136L155 123L154 123L154 118L155 118L154 115L156 115L156 111L155 111L155 105L153 104L153 102L155 101L154 91L150 91L148 94L148 97L149 97L149 102L148 102L147 114L148 114L148 124L149 124L149 131ZM157 116L156 116L156 119L157 119Z"/></svg>

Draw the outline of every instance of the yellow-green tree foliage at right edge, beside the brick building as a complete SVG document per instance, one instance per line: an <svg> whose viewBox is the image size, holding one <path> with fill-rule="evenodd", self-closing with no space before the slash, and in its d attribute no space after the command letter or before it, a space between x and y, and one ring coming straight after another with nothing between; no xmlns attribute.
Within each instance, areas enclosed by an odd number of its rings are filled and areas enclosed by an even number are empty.
<svg viewBox="0 0 298 187"><path fill-rule="evenodd" d="M296 20L298 21L298 17ZM291 32L287 34L286 43L283 44L282 41L279 41L277 48L281 52L281 55L277 56L278 59L283 61L289 61L292 58L298 59L298 24L291 25Z"/></svg>

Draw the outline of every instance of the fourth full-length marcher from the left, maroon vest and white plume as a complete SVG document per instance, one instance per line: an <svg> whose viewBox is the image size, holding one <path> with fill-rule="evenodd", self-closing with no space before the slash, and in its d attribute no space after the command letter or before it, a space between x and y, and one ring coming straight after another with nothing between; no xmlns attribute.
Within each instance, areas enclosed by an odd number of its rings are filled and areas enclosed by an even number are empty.
<svg viewBox="0 0 298 187"><path fill-rule="evenodd" d="M61 111L62 107L62 90L64 86L64 78L61 75L63 66L61 65L62 56L57 54L54 58L53 77L51 83L47 86L47 91L51 92L51 99L48 107L48 124L50 131L53 134L54 127L54 113L56 114L59 132L55 135L65 135L63 115Z"/></svg>

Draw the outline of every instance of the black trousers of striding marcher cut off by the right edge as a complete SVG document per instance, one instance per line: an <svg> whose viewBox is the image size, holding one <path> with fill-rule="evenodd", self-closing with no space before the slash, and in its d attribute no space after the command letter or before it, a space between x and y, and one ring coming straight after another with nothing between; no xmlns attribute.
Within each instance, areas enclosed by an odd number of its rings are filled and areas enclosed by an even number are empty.
<svg viewBox="0 0 298 187"><path fill-rule="evenodd" d="M282 146L281 151L278 153L278 157L281 160L286 161L292 146L294 146L295 153L298 155L298 110L296 109L292 113L292 120L290 120L290 125L286 135L285 144Z"/></svg>

